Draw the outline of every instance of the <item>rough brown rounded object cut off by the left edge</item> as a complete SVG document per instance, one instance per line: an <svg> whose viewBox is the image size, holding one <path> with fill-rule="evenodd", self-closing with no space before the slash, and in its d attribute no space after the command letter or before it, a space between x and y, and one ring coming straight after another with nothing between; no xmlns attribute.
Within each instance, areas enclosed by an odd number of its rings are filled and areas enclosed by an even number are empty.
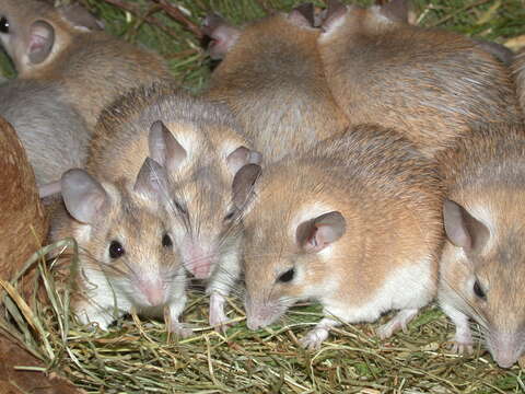
<svg viewBox="0 0 525 394"><path fill-rule="evenodd" d="M12 279L40 246L47 220L35 175L16 134L0 118L0 277Z"/></svg>

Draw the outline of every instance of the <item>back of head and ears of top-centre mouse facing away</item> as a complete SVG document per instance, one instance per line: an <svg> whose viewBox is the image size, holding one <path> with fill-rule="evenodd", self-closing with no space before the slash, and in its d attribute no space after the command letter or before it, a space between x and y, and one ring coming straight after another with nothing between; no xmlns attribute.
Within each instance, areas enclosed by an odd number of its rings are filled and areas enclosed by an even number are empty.
<svg viewBox="0 0 525 394"><path fill-rule="evenodd" d="M203 33L211 38L209 53L212 59L222 59L234 50L260 50L262 46L271 45L269 37L293 39L301 30L314 32L314 7L304 3L293 9L289 14L276 13L244 27L228 24L217 14L208 15L202 23ZM270 38L271 39L271 38ZM250 48L255 46L255 48ZM277 45L273 45L277 46Z"/></svg>

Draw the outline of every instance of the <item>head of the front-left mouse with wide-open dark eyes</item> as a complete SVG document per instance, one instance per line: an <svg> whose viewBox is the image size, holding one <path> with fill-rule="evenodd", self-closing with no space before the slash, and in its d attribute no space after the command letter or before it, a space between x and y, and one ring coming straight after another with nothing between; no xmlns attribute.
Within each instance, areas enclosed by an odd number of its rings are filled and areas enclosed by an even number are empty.
<svg viewBox="0 0 525 394"><path fill-rule="evenodd" d="M144 161L135 185L100 183L77 169L62 175L81 269L103 273L117 301L124 297L139 308L161 306L170 301L172 288L184 281L166 213L158 202L165 187L165 170L151 159Z"/></svg>

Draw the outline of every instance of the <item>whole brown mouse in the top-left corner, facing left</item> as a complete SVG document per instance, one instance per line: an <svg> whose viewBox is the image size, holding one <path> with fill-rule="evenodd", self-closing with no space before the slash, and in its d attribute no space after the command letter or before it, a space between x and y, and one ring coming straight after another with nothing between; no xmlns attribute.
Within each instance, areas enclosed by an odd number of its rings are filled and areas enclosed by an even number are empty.
<svg viewBox="0 0 525 394"><path fill-rule="evenodd" d="M19 79L58 85L90 129L127 90L170 80L159 55L104 32L80 4L55 9L36 0L3 0L0 42Z"/></svg>

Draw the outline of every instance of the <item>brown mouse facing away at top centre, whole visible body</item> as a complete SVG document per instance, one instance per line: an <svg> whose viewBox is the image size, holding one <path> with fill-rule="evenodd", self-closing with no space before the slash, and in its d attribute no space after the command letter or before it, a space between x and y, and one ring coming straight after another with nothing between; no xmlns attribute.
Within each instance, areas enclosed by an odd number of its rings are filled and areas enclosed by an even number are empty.
<svg viewBox="0 0 525 394"><path fill-rule="evenodd" d="M226 104L272 162L341 132L348 119L324 78L312 4L243 27L217 15L205 21L210 55L222 58L206 93Z"/></svg>

